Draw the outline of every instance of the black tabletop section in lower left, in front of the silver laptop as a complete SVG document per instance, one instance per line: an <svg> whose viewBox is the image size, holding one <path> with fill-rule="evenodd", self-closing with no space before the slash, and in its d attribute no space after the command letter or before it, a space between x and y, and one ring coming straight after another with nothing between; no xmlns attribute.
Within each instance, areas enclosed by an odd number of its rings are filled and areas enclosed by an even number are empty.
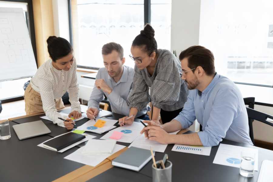
<svg viewBox="0 0 273 182"><path fill-rule="evenodd" d="M36 136L19 140L9 122L11 138L0 140L0 181L52 181L84 166L64 157L78 149L73 147L63 153L47 150L37 145L52 137Z"/></svg>

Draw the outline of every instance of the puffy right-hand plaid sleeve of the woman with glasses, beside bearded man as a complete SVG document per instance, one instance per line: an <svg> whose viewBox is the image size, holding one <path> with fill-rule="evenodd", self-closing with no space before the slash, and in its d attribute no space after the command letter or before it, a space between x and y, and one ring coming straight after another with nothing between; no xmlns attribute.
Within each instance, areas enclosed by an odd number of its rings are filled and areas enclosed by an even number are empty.
<svg viewBox="0 0 273 182"><path fill-rule="evenodd" d="M164 59L166 64L159 68L150 89L151 102L159 109L163 105L172 105L178 101L181 85L176 63L170 56Z"/></svg>

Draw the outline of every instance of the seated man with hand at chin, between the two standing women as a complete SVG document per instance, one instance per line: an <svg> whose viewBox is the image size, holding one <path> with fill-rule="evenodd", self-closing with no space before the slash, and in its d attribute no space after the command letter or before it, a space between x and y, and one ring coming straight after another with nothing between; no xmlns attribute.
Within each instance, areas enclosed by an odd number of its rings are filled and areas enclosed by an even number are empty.
<svg viewBox="0 0 273 182"><path fill-rule="evenodd" d="M100 68L95 87L88 101L87 117L93 119L99 113L99 102L103 100L103 95L109 99L112 112L129 115L130 107L127 98L132 90L134 69L124 66L123 48L120 44L110 42L102 47L104 68ZM136 117L149 120L146 114L147 108L139 111Z"/></svg>

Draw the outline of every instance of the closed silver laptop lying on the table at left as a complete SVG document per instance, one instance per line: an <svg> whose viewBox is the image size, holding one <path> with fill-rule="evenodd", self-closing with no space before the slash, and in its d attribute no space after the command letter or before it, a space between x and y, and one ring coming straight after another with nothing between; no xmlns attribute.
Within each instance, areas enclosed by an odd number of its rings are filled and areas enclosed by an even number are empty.
<svg viewBox="0 0 273 182"><path fill-rule="evenodd" d="M44 135L51 133L42 120L33 121L29 123L16 124L12 126L19 140L24 140L34 136Z"/></svg>

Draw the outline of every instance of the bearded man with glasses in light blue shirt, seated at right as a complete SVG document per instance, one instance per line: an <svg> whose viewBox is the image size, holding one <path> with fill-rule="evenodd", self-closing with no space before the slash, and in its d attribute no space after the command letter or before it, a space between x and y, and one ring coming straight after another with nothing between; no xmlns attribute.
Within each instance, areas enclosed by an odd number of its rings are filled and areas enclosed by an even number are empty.
<svg viewBox="0 0 273 182"><path fill-rule="evenodd" d="M180 53L182 79L190 89L187 102L179 115L160 125L152 121L142 133L160 143L216 146L222 139L253 145L249 136L248 115L238 87L228 78L218 75L212 52L202 46L192 46ZM186 129L197 119L203 128L198 133L171 135Z"/></svg>

